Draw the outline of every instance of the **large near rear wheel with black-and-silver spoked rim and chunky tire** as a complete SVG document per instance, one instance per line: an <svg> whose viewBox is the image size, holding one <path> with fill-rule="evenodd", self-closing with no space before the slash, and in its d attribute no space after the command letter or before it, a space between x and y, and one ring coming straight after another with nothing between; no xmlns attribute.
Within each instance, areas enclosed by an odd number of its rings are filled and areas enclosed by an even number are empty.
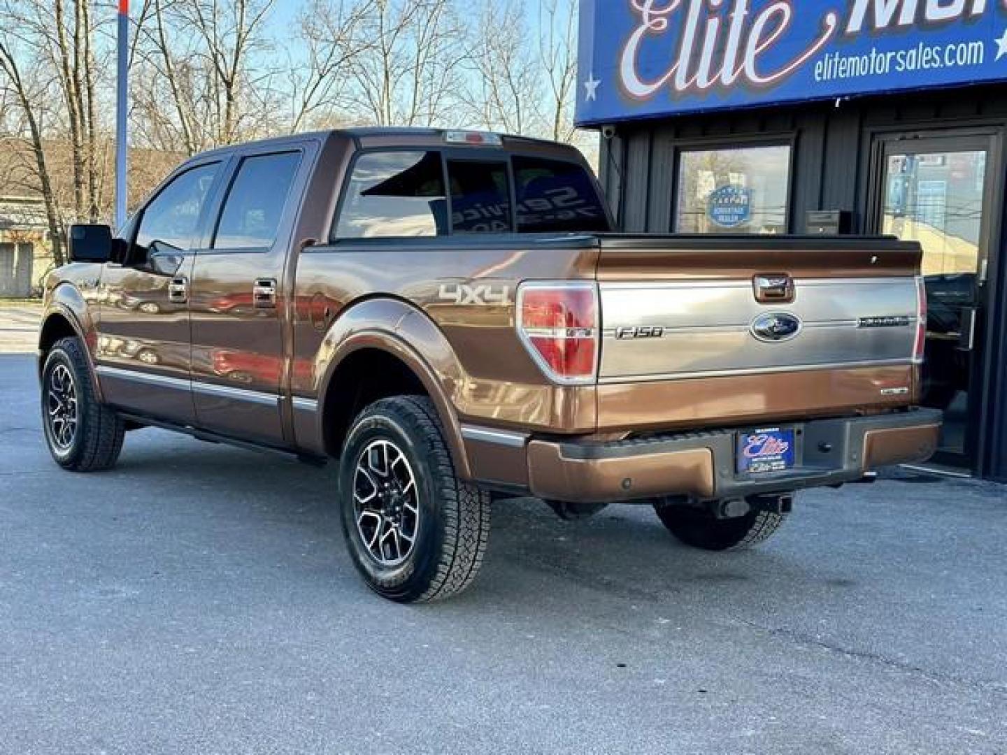
<svg viewBox="0 0 1007 755"><path fill-rule="evenodd" d="M380 476L383 453L386 474ZM390 458L395 459L391 472ZM375 498L379 487L387 503ZM353 422L339 460L340 519L353 565L379 595L400 603L429 602L468 587L486 552L489 501L488 493L458 479L429 399L383 399ZM380 513L370 510L379 508ZM391 519L384 518L388 512ZM399 533L410 532L415 542L400 539ZM383 535L388 542L376 547Z"/></svg>

